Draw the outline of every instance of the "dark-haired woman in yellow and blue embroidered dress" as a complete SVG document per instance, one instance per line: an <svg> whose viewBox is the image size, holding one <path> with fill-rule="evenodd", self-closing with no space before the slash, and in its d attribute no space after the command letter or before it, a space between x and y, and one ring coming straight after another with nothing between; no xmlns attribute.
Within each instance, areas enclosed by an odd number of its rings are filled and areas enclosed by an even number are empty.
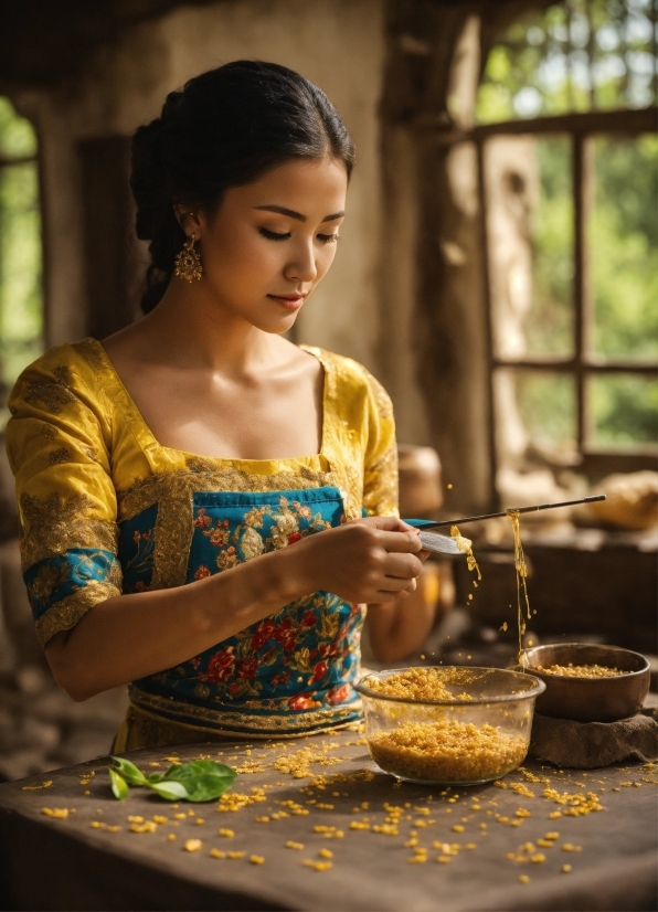
<svg viewBox="0 0 658 912"><path fill-rule="evenodd" d="M38 636L75 700L132 682L117 751L349 723L364 605L384 660L427 632L402 606L424 554L396 518L390 400L282 338L331 265L353 160L283 66L171 93L132 146L146 316L13 390Z"/></svg>

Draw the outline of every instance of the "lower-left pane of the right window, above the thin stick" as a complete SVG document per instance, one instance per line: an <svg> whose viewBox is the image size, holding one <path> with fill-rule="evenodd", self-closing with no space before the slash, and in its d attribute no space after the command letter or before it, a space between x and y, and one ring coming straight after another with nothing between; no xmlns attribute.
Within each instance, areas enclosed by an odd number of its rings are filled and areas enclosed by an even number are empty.
<svg viewBox="0 0 658 912"><path fill-rule="evenodd" d="M563 462L576 445L575 384L570 374L501 368L495 374L501 464L529 449Z"/></svg>

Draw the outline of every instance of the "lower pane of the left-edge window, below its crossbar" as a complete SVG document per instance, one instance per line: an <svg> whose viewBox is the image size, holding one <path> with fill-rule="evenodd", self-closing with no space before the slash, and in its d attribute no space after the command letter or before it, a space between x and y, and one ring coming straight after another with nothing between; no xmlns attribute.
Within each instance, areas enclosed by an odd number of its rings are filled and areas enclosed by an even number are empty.
<svg viewBox="0 0 658 912"><path fill-rule="evenodd" d="M7 388L41 353L41 336L39 183L36 163L28 162L0 169L0 379Z"/></svg>

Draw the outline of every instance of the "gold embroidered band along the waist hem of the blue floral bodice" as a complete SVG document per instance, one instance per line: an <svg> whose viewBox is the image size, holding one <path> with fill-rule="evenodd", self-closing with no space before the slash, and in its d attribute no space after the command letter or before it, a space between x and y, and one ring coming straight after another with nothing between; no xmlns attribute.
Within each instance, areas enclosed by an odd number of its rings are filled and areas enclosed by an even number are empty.
<svg viewBox="0 0 658 912"><path fill-rule="evenodd" d="M276 715L255 715L231 710L227 707L217 710L184 703L181 700L170 700L167 697L159 697L156 693L139 690L135 685L129 685L128 694L135 707L150 711L156 715L164 715L163 721L166 722L177 721L171 719L172 715L182 715L190 720L190 724L193 725L202 727L205 722L211 723L213 731L220 733L222 733L222 729L227 734L232 731L247 731L254 738L258 736L258 732L262 732L264 738L269 738L273 733L277 735L288 733L294 736L295 733L304 734L309 729L335 727L341 722L347 724L353 721L353 717L362 714L361 700L354 700L352 703L341 707L321 710L295 710L293 712L284 709L287 703L287 698L285 698L282 699L282 710ZM348 715L351 718L347 719ZM214 728L215 725L217 728Z"/></svg>

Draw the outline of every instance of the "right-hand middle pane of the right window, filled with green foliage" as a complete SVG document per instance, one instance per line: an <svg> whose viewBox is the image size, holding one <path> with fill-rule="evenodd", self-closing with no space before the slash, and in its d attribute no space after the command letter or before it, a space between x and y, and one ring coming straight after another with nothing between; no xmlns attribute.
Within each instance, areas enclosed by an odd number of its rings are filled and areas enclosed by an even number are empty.
<svg viewBox="0 0 658 912"><path fill-rule="evenodd" d="M593 141L596 354L658 358L658 136Z"/></svg>

